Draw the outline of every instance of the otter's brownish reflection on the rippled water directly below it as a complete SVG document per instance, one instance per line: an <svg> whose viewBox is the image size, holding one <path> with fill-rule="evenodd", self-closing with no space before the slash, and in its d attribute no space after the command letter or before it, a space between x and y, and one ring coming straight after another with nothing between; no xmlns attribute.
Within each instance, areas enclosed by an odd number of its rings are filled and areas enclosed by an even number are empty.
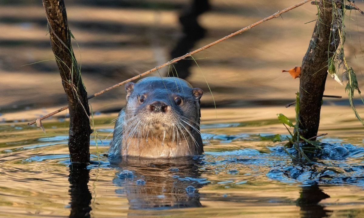
<svg viewBox="0 0 364 218"><path fill-rule="evenodd" d="M120 187L116 193L128 199L131 210L202 207L198 189L208 182L201 178L198 162L186 158L110 161L120 167L113 181Z"/></svg>

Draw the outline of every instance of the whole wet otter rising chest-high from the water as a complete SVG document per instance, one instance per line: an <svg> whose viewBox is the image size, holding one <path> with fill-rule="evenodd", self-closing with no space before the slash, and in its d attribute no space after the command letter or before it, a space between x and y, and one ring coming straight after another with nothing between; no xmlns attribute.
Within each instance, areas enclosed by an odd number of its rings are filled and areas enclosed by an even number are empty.
<svg viewBox="0 0 364 218"><path fill-rule="evenodd" d="M125 91L109 155L155 159L203 153L200 88L175 77L147 77L127 83Z"/></svg>

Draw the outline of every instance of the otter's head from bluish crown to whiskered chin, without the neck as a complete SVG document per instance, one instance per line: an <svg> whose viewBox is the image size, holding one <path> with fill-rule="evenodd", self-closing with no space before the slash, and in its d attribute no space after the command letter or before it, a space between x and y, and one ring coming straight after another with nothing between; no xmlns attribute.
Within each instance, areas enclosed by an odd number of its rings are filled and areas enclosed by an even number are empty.
<svg viewBox="0 0 364 218"><path fill-rule="evenodd" d="M203 91L192 88L185 80L148 77L127 83L125 90L126 120L134 121L127 123L138 123L143 132L166 134L165 130L189 130L199 124Z"/></svg>

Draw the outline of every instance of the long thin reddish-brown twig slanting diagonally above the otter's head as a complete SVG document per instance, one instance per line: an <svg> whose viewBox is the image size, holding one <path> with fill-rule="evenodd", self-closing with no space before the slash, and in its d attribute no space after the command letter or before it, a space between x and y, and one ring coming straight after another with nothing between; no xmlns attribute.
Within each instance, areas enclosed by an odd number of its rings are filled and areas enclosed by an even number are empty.
<svg viewBox="0 0 364 218"><path fill-rule="evenodd" d="M149 70L149 71L146 71L146 72L144 72L144 73L142 73L142 74L139 74L139 75L137 75L137 76L134 76L133 78L127 79L127 80L125 80L124 82L118 83L118 84L116 84L116 85L114 85L114 86L111 86L111 87L106 88L106 89L104 89L104 90L102 90L102 91L99 91L99 92L97 92L97 93L95 93L95 94L93 94L93 95L89 96L87 99L91 99L91 98L94 98L94 97L96 97L96 96L98 96L98 95L104 94L105 92L110 91L110 90L112 90L113 88L116 88L116 87L122 86L123 84L126 84L126 83L131 82L131 81L136 80L136 79L139 79L139 78L141 78L142 76L145 76L145 75L147 75L147 74L150 74L151 72L154 72L154 71L156 71L156 70L159 70L159 69L161 69L162 67L169 66L169 65L171 65L171 64L173 64L173 63L178 62L179 60L182 60L182 59L185 59L185 58L187 58L187 57L189 57L189 56L192 56L192 55L194 55L194 54L195 54L195 53L197 53L197 52L200 52L200 51L203 51L203 50L205 50L205 49L207 49L207 48L210 48L211 46L213 46L213 45L215 45L215 44L217 44L217 43L220 43L220 42L222 42L222 41L225 41L226 39L229 39L229 38L231 38L231 37L233 37L233 36L236 36L236 35L238 35L238 34L240 34L240 33L242 33L242 32L245 32L245 31L247 31L247 30L249 30L249 29L251 29L251 28L255 27L256 25L259 25L259 24L261 24L261 23L263 23L263 22L265 22L265 21L267 21L267 20L272 20L272 19L274 19L274 18L277 18L277 17L281 16L281 14L282 14L282 13L286 13L286 12L288 12L288 11L290 11L290 10L294 9L294 8L300 7L301 5L303 5L303 4L305 4L305 3L309 2L309 1L310 1L310 0L304 0L304 1L300 2L300 3L298 3L298 4L295 4L295 5L293 5L293 6L289 7L289 8L286 8L286 9L284 9L284 10L282 10L282 11L278 11L278 12L274 13L273 15L271 15L271 16L269 16L269 17L264 18L263 20L260 20L260 21L258 21L258 22L256 22L256 23L253 23L253 24L250 24L248 27L242 28L242 29L240 29L239 31L236 31L236 32L234 32L234 33L231 33L230 35L227 35L227 36L225 36L225 37L223 37L223 38L221 38L221 39L219 39L219 40L217 40L217 41L214 41L213 43L210 43L210 44L208 44L208 45L205 45L205 46L203 46L203 47L201 47L201 48L199 48L199 49L196 49L195 51L191 51L191 52L189 52L189 53L187 53L187 54L185 54L185 55L183 55L183 56L181 56L181 57L178 57L178 58L172 59L172 60L170 60L170 61L169 61L169 62L167 62L167 63L161 64L161 65L159 65L158 67L155 67L155 68L153 68L153 69L151 69L151 70ZM59 110L56 110L56 111L54 111L54 112L52 112L52 113L50 113L50 114L47 114L46 116L42 116L42 117L41 117L41 118L39 118L39 119L40 119L40 120L43 120L43 119L48 118L48 117L50 117L50 116L52 116L52 115L55 115L55 114L57 114L57 113L59 113L59 112L61 112L61 111L63 111L63 110L66 110L67 108L68 108L68 106L63 107L63 108L61 108L61 109L59 109ZM32 124L34 124L34 123L35 123L35 120L33 120L33 121L29 122L29 123L28 123L28 125L32 125Z"/></svg>

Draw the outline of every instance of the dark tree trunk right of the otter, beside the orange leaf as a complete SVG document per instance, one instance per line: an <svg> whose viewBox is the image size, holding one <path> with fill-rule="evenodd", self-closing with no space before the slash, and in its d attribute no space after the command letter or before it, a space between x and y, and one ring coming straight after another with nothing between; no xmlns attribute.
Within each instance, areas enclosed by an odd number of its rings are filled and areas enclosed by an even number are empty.
<svg viewBox="0 0 364 218"><path fill-rule="evenodd" d="M306 139L317 135L322 97L328 74L328 60L336 51L339 43L339 36L332 32L333 1L336 1L337 7L341 7L342 0L320 1L318 19L310 45L302 60L299 127L302 131L301 135Z"/></svg>

